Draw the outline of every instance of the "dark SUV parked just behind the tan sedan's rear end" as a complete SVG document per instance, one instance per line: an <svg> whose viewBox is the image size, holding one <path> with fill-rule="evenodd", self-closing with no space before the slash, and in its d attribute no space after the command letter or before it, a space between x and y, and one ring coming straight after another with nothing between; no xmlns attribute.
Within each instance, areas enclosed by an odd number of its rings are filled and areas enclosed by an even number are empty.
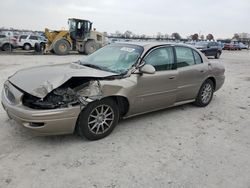
<svg viewBox="0 0 250 188"><path fill-rule="evenodd" d="M206 56L213 56L216 59L220 58L222 53L221 44L218 42L197 42L195 43L195 47L199 49Z"/></svg>

